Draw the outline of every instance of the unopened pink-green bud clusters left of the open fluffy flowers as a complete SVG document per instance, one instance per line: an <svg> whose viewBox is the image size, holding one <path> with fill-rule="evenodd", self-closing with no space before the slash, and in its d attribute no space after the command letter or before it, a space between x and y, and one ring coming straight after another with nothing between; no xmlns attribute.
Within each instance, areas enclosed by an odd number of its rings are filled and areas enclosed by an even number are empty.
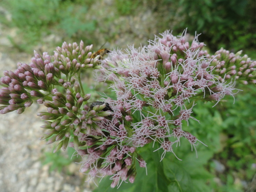
<svg viewBox="0 0 256 192"><path fill-rule="evenodd" d="M104 135L97 122L104 122L112 112L107 111L111 108L106 108L106 104L95 105L91 109L88 105L91 94L84 94L79 82L82 69L98 68L97 58L91 59L91 50L92 46L84 48L82 41L79 46L64 42L54 56L46 52L41 56L35 52L29 65L18 63L14 72L5 71L5 77L1 78L4 88L0 90L0 113L14 110L22 113L37 100L47 107L47 112L37 115L46 122L41 127L49 130L40 139L49 138L47 144L58 141L55 152L60 148L65 151L73 135L77 151L85 144L93 146L98 137ZM61 92L55 87L61 88ZM83 141L78 141L81 135Z"/></svg>

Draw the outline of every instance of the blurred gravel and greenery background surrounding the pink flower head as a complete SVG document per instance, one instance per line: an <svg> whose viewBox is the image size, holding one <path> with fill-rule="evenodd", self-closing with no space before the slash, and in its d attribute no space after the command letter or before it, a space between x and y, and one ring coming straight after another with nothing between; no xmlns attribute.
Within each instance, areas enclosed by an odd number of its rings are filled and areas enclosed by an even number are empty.
<svg viewBox="0 0 256 192"><path fill-rule="evenodd" d="M243 50L255 60L255 10L255 0L0 0L0 76L17 62L28 63L33 50L52 54L63 41L83 40L95 51L126 49L186 28L190 36L201 34L209 53ZM256 89L238 89L243 92L235 104L198 104L194 115L201 124L191 121L186 128L208 145L199 146L205 155L191 161L204 167L189 175L206 187L198 191L256 191ZM35 105L26 115L0 116L0 191L92 191L72 150L52 154L53 146L38 141L44 130L36 113L43 110Z"/></svg>

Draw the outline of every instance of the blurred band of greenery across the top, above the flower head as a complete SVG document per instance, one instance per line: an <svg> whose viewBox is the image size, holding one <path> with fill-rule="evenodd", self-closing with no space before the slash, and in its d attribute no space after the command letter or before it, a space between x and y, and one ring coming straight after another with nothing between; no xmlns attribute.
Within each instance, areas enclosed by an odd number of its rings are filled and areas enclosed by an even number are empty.
<svg viewBox="0 0 256 192"><path fill-rule="evenodd" d="M145 25L144 34L139 34L140 41L143 39L142 44L152 37L152 34L149 34L152 31L157 34L171 29L179 34L188 28L188 32L193 35L195 31L201 33L199 40L205 42L212 52L221 47L234 52L242 49L245 54L256 58L254 0L113 0L112 2L2 0L2 2L11 13L12 21L8 22L2 18L1 22L10 27L18 27L19 35L24 37L22 43L18 42L18 44L12 39L13 44L20 50L31 50L32 46L44 41L44 38L50 34L55 34L65 41L83 39L86 44L99 47L105 41L109 41L111 45L115 44L124 33L134 36L136 42L137 31L134 31L134 26L130 26L133 17L143 17L143 14L151 13L149 15L154 15L152 25ZM144 22L146 17L140 19L140 22L146 24ZM102 34L104 39L101 37Z"/></svg>

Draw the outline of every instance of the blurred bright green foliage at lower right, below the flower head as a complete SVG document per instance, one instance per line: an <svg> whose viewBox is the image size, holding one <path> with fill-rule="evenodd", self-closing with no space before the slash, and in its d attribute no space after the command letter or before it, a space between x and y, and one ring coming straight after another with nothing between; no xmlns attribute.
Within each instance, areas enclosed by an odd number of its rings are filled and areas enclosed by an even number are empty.
<svg viewBox="0 0 256 192"><path fill-rule="evenodd" d="M214 187L216 183L209 182L215 191L242 191L242 183L250 183L256 174L256 89L254 85L240 85L238 89L243 91L235 96L234 103L231 96L215 108L211 108L214 104L210 102L198 103L193 111L200 124L189 121L187 129L184 127L207 144L204 150L212 152L211 158L225 167L223 173L218 173L216 164L208 161L209 172L224 183ZM199 145L198 149L202 147Z"/></svg>

